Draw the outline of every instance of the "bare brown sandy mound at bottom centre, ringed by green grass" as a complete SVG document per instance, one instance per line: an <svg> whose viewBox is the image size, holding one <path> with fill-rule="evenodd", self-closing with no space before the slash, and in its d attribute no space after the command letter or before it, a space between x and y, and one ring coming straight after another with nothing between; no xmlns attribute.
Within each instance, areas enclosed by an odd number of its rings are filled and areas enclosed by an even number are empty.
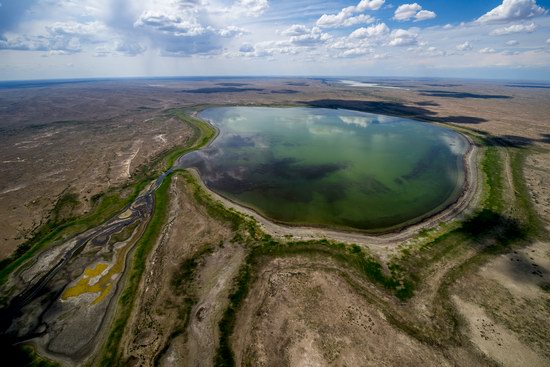
<svg viewBox="0 0 550 367"><path fill-rule="evenodd" d="M328 260L270 261L253 284L235 330L238 366L452 365L393 327Z"/></svg>

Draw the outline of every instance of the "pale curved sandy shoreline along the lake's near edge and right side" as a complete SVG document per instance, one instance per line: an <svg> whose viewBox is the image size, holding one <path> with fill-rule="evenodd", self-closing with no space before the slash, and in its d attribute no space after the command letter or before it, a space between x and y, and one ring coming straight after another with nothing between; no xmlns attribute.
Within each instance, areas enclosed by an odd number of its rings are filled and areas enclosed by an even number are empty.
<svg viewBox="0 0 550 367"><path fill-rule="evenodd" d="M477 164L479 149L468 136L464 134L461 135L468 140L470 148L464 156L465 180L459 197L443 210L421 220L418 223L406 226L393 232L379 235L318 227L290 226L275 223L262 216L255 210L242 206L212 191L206 186L200 177L199 172L195 168L188 168L188 170L197 179L201 187L214 199L221 202L227 208L237 210L240 213L253 217L266 233L277 239L288 240L289 237L296 241L331 239L345 243L354 243L367 246L379 255L385 256L400 243L415 236L418 231L424 228L435 227L441 222L447 222L463 217L470 211L471 208L475 207L475 204L479 201L480 185L478 182L479 167Z"/></svg>

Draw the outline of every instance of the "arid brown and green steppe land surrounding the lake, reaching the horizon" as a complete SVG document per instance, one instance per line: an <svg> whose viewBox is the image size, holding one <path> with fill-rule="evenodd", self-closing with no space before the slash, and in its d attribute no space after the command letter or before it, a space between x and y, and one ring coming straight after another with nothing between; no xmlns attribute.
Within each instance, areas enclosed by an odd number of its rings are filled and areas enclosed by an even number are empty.
<svg viewBox="0 0 550 367"><path fill-rule="evenodd" d="M4 355L14 365L550 364L550 85L368 82L378 86L3 84ZM276 225L192 171L146 195L181 154L214 138L193 117L208 106L346 108L446 125L476 147L467 200L364 236Z"/></svg>

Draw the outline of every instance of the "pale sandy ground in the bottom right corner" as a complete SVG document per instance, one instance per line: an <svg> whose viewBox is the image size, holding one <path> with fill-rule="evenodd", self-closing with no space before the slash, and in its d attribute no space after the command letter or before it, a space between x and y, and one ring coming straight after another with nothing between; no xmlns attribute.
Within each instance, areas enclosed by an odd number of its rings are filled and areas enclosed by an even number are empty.
<svg viewBox="0 0 550 367"><path fill-rule="evenodd" d="M472 343L503 366L550 365L550 244L501 255L455 287Z"/></svg>

